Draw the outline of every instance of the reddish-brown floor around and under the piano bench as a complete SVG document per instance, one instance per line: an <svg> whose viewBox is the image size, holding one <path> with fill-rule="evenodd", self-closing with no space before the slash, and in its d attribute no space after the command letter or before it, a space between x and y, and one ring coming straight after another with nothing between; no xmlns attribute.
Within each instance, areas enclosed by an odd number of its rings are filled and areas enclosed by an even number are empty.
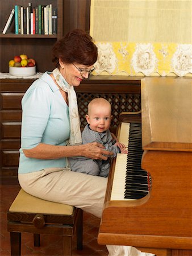
<svg viewBox="0 0 192 256"><path fill-rule="evenodd" d="M7 232L7 217L6 213L12 201L19 192L19 185L0 185L0 255L10 256L10 233ZM91 214L84 213L84 249L76 250L76 240L73 242L73 256L92 256L101 255L107 256L106 246L98 245L97 234L100 220ZM61 236L42 235L40 238L40 247L34 247L32 234L22 234L22 256L52 256L62 255L62 240Z"/></svg>

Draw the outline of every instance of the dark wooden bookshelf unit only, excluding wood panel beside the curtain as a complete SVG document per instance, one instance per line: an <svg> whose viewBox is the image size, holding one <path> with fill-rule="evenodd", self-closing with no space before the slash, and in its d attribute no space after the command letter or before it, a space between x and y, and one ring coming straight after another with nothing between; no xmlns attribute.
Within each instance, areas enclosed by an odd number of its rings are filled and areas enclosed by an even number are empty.
<svg viewBox="0 0 192 256"><path fill-rule="evenodd" d="M15 5L23 7L28 6L28 2L32 6L52 4L57 7L57 34L54 35L15 35L15 22L11 22L6 34L2 34L7 18ZM28 57L36 60L36 72L51 71L54 67L51 61L51 49L53 44L62 37L63 28L63 0L6 0L1 1L1 18L0 18L0 67L1 72L9 72L9 60L15 55L26 54ZM49 54L50 53L50 54Z"/></svg>

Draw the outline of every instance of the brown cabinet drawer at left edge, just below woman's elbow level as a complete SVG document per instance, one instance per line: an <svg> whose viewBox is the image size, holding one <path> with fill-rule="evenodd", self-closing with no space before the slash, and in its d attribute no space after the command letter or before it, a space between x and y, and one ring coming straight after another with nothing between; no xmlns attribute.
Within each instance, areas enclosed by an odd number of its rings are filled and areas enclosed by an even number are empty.
<svg viewBox="0 0 192 256"><path fill-rule="evenodd" d="M2 155L2 167L13 167L19 164L19 151L18 150L3 150Z"/></svg>

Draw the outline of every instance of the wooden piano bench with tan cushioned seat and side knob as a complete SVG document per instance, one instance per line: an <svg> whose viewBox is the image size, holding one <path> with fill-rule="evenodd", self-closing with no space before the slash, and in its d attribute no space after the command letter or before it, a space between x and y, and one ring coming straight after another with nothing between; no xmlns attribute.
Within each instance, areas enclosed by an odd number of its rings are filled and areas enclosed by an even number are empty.
<svg viewBox="0 0 192 256"><path fill-rule="evenodd" d="M31 196L20 189L7 212L7 230L11 255L21 253L21 233L34 234L34 246L40 246L40 234L62 236L63 255L72 255L72 237L77 234L77 249L82 250L83 211L66 204Z"/></svg>

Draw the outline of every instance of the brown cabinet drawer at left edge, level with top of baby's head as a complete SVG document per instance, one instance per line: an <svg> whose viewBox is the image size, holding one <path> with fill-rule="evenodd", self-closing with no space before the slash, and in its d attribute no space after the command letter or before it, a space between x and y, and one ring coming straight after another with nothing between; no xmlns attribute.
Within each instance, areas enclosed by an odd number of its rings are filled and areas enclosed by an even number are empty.
<svg viewBox="0 0 192 256"><path fill-rule="evenodd" d="M21 100L24 93L1 93L1 109L21 109Z"/></svg>

